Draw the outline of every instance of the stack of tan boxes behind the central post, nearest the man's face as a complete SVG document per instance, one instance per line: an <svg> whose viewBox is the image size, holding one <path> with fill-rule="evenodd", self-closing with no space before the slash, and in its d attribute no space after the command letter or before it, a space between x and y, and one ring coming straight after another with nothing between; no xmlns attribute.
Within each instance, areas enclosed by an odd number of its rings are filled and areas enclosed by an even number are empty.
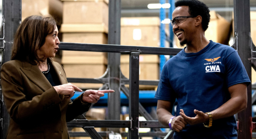
<svg viewBox="0 0 256 139"><path fill-rule="evenodd" d="M121 45L159 47L159 17L121 18ZM159 56L140 55L140 80L159 79ZM129 78L129 55L121 55L121 72ZM140 85L140 89L155 86Z"/></svg>

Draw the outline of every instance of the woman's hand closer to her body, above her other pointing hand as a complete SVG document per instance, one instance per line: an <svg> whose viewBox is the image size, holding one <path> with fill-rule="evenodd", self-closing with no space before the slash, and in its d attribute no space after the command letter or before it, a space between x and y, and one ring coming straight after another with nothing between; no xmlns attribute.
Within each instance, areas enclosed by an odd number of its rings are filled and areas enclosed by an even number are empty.
<svg viewBox="0 0 256 139"><path fill-rule="evenodd" d="M72 83L54 86L54 88L59 95L65 95L67 98L73 97L74 91L82 92L80 88L74 86Z"/></svg>

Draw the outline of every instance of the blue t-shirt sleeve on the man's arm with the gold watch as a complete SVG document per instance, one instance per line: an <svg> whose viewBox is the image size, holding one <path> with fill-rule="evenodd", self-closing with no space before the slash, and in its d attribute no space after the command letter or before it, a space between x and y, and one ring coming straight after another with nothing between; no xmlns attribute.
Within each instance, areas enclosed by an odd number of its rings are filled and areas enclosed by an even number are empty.
<svg viewBox="0 0 256 139"><path fill-rule="evenodd" d="M226 84L228 88L238 83L250 84L250 79L236 51L225 58Z"/></svg>

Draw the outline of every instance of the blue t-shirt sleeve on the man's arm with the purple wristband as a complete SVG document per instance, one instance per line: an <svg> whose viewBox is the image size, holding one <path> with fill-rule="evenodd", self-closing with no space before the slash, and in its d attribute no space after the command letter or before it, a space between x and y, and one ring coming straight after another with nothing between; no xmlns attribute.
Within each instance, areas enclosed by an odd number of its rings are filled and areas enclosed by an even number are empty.
<svg viewBox="0 0 256 139"><path fill-rule="evenodd" d="M160 81L155 93L155 99L171 101L175 100L175 92L170 85L169 76L168 76L168 66L165 64L162 69L162 73L160 76Z"/></svg>

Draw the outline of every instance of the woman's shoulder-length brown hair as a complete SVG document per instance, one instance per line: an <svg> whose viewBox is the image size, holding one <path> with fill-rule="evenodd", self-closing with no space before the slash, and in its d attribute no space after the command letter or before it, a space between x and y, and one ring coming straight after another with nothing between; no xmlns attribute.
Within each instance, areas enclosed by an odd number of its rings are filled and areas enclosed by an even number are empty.
<svg viewBox="0 0 256 139"><path fill-rule="evenodd" d="M48 34L54 32L56 21L51 16L32 15L24 19L14 36L11 60L26 60L36 64L41 59L37 50L45 44Z"/></svg>

